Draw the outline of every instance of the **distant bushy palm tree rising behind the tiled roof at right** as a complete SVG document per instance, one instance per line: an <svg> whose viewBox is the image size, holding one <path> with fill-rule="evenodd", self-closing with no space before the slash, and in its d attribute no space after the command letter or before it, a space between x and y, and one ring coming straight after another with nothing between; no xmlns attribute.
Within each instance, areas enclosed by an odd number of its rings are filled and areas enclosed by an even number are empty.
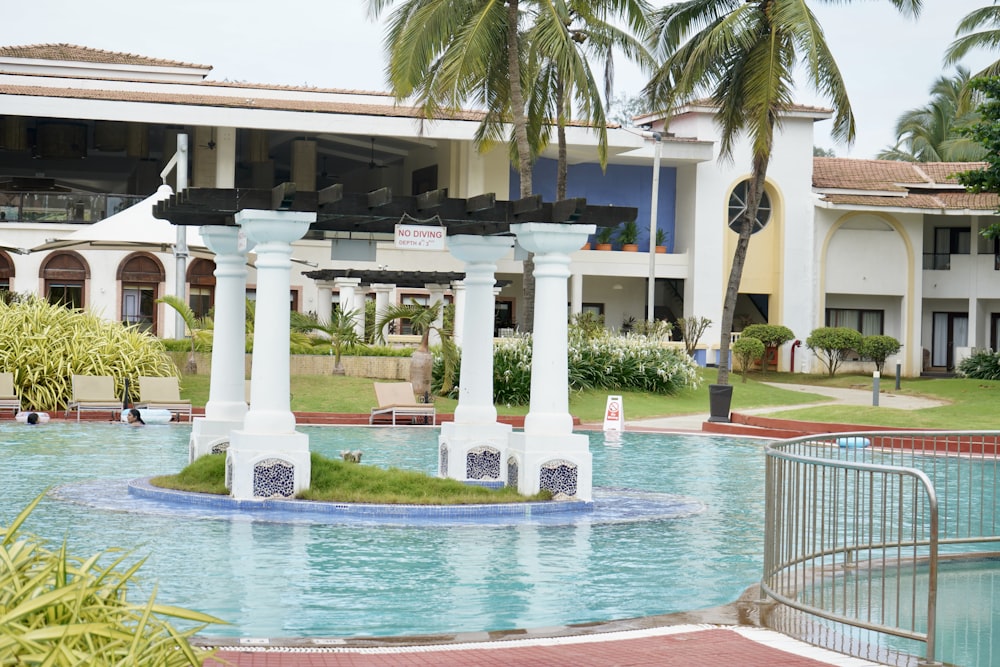
<svg viewBox="0 0 1000 667"><path fill-rule="evenodd" d="M910 109L896 122L896 145L881 151L880 160L907 162L977 162L986 149L958 130L979 120L980 96L969 85L964 67L953 77L942 76L931 87L931 102Z"/></svg>

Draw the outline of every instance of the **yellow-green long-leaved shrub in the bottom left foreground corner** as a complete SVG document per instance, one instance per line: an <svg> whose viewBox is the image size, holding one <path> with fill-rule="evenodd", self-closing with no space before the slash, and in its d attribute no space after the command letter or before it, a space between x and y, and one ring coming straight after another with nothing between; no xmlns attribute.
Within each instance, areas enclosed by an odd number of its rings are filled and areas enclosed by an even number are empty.
<svg viewBox="0 0 1000 667"><path fill-rule="evenodd" d="M0 526L0 663L4 665L200 665L212 651L189 638L223 623L195 611L128 599L142 561L110 552L77 558L21 532L44 494L6 528ZM110 561L109 565L103 562ZM180 630L168 619L190 625Z"/></svg>

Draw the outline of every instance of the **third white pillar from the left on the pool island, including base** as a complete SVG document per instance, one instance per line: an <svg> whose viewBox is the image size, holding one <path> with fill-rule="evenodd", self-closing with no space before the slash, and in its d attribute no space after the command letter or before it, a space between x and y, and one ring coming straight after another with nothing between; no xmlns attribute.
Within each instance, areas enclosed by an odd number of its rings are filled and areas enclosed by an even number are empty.
<svg viewBox="0 0 1000 667"><path fill-rule="evenodd" d="M511 427L497 422L493 405L493 289L496 261L510 252L513 244L512 238L503 236L448 237L448 250L465 262L467 298L463 299L458 407L455 421L443 423L438 438L441 477L496 484L507 479Z"/></svg>

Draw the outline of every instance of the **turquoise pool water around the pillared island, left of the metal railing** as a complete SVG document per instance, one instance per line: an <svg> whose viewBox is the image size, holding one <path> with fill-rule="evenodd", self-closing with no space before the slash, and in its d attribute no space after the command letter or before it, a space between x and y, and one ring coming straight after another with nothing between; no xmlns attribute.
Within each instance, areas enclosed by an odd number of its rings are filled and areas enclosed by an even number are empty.
<svg viewBox="0 0 1000 667"><path fill-rule="evenodd" d="M437 429L300 427L313 451L360 448L366 464L433 473ZM174 472L184 425L0 426L7 467L0 522L43 489ZM274 523L106 511L46 499L26 530L90 555L127 547L158 600L219 616L205 634L398 636L500 630L702 609L759 580L761 446L700 435L592 433L595 487L680 494L685 518L544 526L406 527ZM136 500L125 500L127 507Z"/></svg>

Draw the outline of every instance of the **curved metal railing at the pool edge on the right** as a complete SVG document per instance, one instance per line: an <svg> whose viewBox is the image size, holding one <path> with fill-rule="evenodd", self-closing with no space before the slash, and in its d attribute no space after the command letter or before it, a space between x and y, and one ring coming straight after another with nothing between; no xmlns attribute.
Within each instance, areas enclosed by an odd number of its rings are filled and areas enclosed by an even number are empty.
<svg viewBox="0 0 1000 667"><path fill-rule="evenodd" d="M765 450L765 624L860 658L941 664L939 564L1000 543L1000 432L832 433Z"/></svg>

